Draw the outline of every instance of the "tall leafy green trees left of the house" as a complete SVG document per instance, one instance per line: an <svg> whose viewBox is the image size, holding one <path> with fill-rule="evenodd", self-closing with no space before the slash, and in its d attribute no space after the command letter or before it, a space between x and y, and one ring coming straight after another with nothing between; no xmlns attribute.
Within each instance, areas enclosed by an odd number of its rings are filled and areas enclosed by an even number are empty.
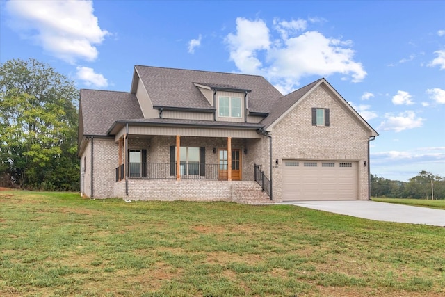
<svg viewBox="0 0 445 297"><path fill-rule="evenodd" d="M78 99L46 63L0 65L0 186L79 191Z"/></svg>

